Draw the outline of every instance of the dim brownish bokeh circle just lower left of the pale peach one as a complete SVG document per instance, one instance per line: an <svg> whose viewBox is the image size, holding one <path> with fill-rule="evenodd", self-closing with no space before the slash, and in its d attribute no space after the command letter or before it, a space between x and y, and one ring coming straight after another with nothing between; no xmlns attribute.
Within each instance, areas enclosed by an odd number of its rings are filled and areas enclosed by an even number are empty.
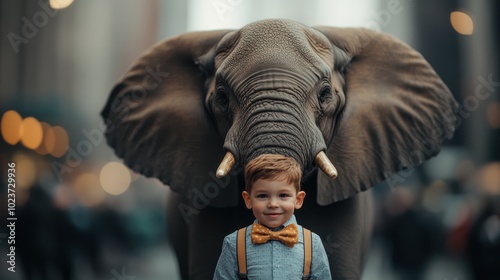
<svg viewBox="0 0 500 280"><path fill-rule="evenodd" d="M99 177L93 173L82 173L73 183L76 199L84 206L99 205L105 198L105 193L99 184Z"/></svg>

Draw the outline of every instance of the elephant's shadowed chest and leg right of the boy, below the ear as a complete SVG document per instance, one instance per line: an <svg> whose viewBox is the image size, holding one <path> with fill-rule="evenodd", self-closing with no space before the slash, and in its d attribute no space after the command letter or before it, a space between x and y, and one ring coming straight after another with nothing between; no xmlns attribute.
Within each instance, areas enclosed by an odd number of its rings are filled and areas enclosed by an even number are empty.
<svg viewBox="0 0 500 280"><path fill-rule="evenodd" d="M323 240L333 279L360 279L373 229L371 191L328 206L319 206L313 192L296 212L299 224Z"/></svg>

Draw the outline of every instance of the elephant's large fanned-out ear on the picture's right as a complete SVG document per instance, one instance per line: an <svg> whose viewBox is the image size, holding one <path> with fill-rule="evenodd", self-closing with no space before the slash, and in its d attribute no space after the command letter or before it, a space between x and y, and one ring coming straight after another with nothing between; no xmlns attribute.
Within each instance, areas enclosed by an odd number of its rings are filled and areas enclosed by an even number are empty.
<svg viewBox="0 0 500 280"><path fill-rule="evenodd" d="M346 98L327 148L339 176L318 172L318 203L326 205L401 180L396 173L436 155L453 135L457 104L421 54L396 38L367 29L317 30L333 45Z"/></svg>

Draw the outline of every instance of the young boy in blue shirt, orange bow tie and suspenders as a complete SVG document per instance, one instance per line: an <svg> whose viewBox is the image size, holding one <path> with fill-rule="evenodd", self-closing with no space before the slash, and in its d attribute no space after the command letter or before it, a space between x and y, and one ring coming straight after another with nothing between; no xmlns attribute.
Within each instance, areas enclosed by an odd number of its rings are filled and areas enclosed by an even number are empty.
<svg viewBox="0 0 500 280"><path fill-rule="evenodd" d="M331 279L320 237L303 231L293 215L306 195L301 177L297 162L281 155L260 155L247 164L242 195L256 220L226 236L215 280Z"/></svg>

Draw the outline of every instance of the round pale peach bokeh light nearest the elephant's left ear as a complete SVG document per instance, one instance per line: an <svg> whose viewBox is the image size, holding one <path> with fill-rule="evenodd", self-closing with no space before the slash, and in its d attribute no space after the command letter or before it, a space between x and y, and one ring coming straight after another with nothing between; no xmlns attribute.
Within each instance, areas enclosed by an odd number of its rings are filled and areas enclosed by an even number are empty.
<svg viewBox="0 0 500 280"><path fill-rule="evenodd" d="M109 162L101 169L102 188L109 194L120 195L130 186L132 176L127 167L119 162Z"/></svg>

